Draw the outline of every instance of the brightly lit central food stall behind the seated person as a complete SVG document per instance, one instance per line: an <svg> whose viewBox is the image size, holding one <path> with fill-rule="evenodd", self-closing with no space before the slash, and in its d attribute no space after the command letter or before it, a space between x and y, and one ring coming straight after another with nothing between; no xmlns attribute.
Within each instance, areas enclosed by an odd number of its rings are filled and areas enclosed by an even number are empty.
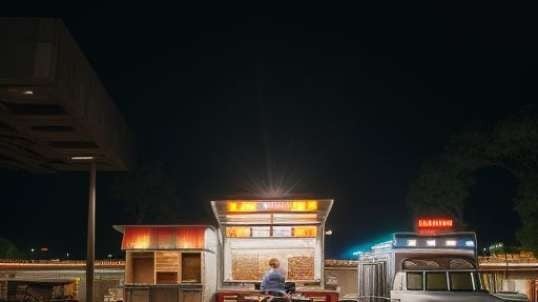
<svg viewBox="0 0 538 302"><path fill-rule="evenodd" d="M332 199L246 199L212 201L222 242L218 302L255 299L271 258L286 281L315 301L334 302L324 283L325 221Z"/></svg>

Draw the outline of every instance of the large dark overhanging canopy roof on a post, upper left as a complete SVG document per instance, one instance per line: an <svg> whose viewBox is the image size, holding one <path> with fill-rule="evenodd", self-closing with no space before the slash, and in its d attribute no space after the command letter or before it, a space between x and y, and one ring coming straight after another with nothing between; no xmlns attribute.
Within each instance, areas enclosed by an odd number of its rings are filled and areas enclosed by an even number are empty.
<svg viewBox="0 0 538 302"><path fill-rule="evenodd" d="M127 124L61 20L0 18L0 166L128 170Z"/></svg>

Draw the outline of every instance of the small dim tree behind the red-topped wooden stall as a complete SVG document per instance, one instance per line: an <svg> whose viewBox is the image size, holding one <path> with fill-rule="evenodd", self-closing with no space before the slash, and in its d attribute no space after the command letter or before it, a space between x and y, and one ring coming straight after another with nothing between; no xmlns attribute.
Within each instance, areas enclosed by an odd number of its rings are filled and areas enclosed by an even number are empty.
<svg viewBox="0 0 538 302"><path fill-rule="evenodd" d="M117 177L112 196L124 203L128 220L136 224L177 222L179 197L176 185L161 162L140 165Z"/></svg>

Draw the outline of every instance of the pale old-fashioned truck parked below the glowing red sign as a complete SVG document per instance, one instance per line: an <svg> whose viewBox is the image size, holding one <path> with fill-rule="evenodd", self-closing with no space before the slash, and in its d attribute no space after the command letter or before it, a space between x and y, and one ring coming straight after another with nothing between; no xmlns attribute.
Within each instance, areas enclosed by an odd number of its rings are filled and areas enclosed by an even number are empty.
<svg viewBox="0 0 538 302"><path fill-rule="evenodd" d="M472 232L395 233L358 269L359 297L369 301L503 301L481 288Z"/></svg>

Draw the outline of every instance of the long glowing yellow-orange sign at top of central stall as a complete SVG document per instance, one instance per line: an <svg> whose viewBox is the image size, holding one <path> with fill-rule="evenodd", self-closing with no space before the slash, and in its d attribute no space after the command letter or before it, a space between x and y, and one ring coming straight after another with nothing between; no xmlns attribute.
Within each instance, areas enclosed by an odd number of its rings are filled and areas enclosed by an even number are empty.
<svg viewBox="0 0 538 302"><path fill-rule="evenodd" d="M228 212L314 212L317 200L228 201Z"/></svg>

